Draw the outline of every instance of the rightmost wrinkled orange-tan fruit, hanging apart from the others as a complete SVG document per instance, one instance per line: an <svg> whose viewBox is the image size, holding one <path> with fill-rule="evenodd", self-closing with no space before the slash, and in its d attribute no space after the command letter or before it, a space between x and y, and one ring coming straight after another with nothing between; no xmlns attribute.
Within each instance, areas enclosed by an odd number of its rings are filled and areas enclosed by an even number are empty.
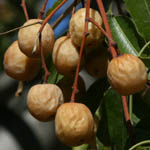
<svg viewBox="0 0 150 150"><path fill-rule="evenodd" d="M107 76L112 88L125 96L141 91L147 81L144 63L131 54L113 58L108 65Z"/></svg>

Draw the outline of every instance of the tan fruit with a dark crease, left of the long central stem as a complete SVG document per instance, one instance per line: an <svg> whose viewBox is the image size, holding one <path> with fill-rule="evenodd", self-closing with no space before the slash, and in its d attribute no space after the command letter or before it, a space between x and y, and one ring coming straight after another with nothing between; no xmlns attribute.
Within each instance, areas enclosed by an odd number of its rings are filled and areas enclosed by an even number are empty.
<svg viewBox="0 0 150 150"><path fill-rule="evenodd" d="M59 73L65 76L72 76L79 61L79 51L70 38L63 36L56 40L52 58Z"/></svg>

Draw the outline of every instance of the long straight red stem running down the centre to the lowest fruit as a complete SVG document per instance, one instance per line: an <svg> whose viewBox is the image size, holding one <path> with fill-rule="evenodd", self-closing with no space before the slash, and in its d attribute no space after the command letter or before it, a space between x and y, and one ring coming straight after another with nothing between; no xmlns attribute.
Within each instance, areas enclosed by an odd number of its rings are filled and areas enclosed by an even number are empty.
<svg viewBox="0 0 150 150"><path fill-rule="evenodd" d="M90 10L90 0L87 0L84 33L83 33L82 43L81 43L81 47L80 47L79 62L78 62L77 68L76 68L76 74L75 74L75 79L74 79L74 84L73 84L73 92L72 92L72 96L71 96L71 102L75 101L75 96L76 96L76 93L78 91L78 77L79 77L79 71L80 71L80 64L81 64L81 59L82 59L85 41L86 41L86 38L88 35L88 20L87 20L87 18L89 18L89 10Z"/></svg>

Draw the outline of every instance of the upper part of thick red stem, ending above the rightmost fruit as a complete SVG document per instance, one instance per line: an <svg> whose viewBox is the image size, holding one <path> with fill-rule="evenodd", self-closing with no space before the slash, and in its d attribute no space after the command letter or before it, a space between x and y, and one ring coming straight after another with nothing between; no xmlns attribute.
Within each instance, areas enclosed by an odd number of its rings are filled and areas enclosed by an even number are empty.
<svg viewBox="0 0 150 150"><path fill-rule="evenodd" d="M105 12L102 0L97 0L97 4L98 4L99 10L101 12L102 18L103 18L103 22L104 22L104 25L105 25L105 28L106 28L106 32L109 35L109 37L112 39L111 30L110 30L110 27L109 27L109 24L108 24L108 19L107 19L107 16L106 16L106 12ZM112 46L111 41L108 41L108 45L109 45L109 49L111 51L112 57L116 57L117 52L116 52L115 48Z"/></svg>

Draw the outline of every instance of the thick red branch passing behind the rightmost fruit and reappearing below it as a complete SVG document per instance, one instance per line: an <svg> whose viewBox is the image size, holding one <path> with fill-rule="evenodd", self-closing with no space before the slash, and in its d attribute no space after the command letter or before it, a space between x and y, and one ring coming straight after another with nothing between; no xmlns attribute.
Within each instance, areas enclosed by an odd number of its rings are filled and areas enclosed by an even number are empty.
<svg viewBox="0 0 150 150"><path fill-rule="evenodd" d="M109 24L108 24L108 19L107 19L106 13L105 13L105 9L104 9L102 0L97 0L97 4L98 4L99 10L101 12L102 18L103 18L103 22L104 22L104 25L105 25L106 32L109 35L109 37L112 39L112 33L111 33L111 30L110 30L110 27L109 27ZM109 42L109 49L111 51L112 56L116 57L117 56L116 49L111 44L110 40L108 42ZM126 99L125 96L122 96L122 102L123 102L125 120L126 120L126 124L128 126L129 135L130 135L130 138L131 138L131 143L134 144L133 127L131 125L129 111L128 111L128 105L127 105L127 99Z"/></svg>

